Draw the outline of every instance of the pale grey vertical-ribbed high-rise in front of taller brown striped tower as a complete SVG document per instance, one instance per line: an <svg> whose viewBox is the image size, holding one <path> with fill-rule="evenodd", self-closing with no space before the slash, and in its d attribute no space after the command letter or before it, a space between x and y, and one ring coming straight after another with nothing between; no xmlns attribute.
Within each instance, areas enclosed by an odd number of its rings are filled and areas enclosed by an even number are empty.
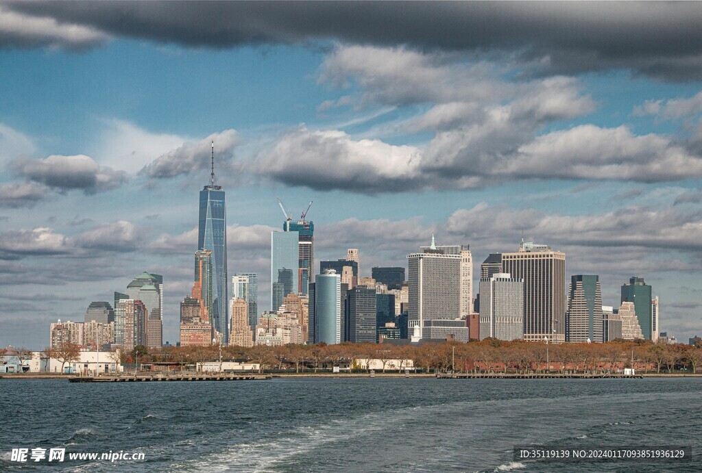
<svg viewBox="0 0 702 473"><path fill-rule="evenodd" d="M523 327L524 280L505 273L481 279L480 339L516 340L522 338Z"/></svg>

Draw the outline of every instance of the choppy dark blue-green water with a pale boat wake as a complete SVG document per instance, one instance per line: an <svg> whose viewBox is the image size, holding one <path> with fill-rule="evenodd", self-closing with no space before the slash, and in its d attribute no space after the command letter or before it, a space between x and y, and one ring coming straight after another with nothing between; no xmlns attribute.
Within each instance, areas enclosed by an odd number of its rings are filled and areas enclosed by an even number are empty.
<svg viewBox="0 0 702 473"><path fill-rule="evenodd" d="M702 378L0 381L0 472L702 471ZM691 445L691 463L514 462L512 447ZM11 462L11 449L145 460Z"/></svg>

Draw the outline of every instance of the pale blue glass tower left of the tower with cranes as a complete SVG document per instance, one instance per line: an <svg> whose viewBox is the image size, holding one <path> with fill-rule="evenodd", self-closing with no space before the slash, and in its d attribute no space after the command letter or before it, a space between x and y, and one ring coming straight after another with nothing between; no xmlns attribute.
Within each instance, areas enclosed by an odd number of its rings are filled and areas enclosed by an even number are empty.
<svg viewBox="0 0 702 473"><path fill-rule="evenodd" d="M299 294L300 275L298 270L299 242L296 231L271 232L270 258L270 307L271 312L282 306L285 296L294 292ZM276 286L279 285L279 286Z"/></svg>

